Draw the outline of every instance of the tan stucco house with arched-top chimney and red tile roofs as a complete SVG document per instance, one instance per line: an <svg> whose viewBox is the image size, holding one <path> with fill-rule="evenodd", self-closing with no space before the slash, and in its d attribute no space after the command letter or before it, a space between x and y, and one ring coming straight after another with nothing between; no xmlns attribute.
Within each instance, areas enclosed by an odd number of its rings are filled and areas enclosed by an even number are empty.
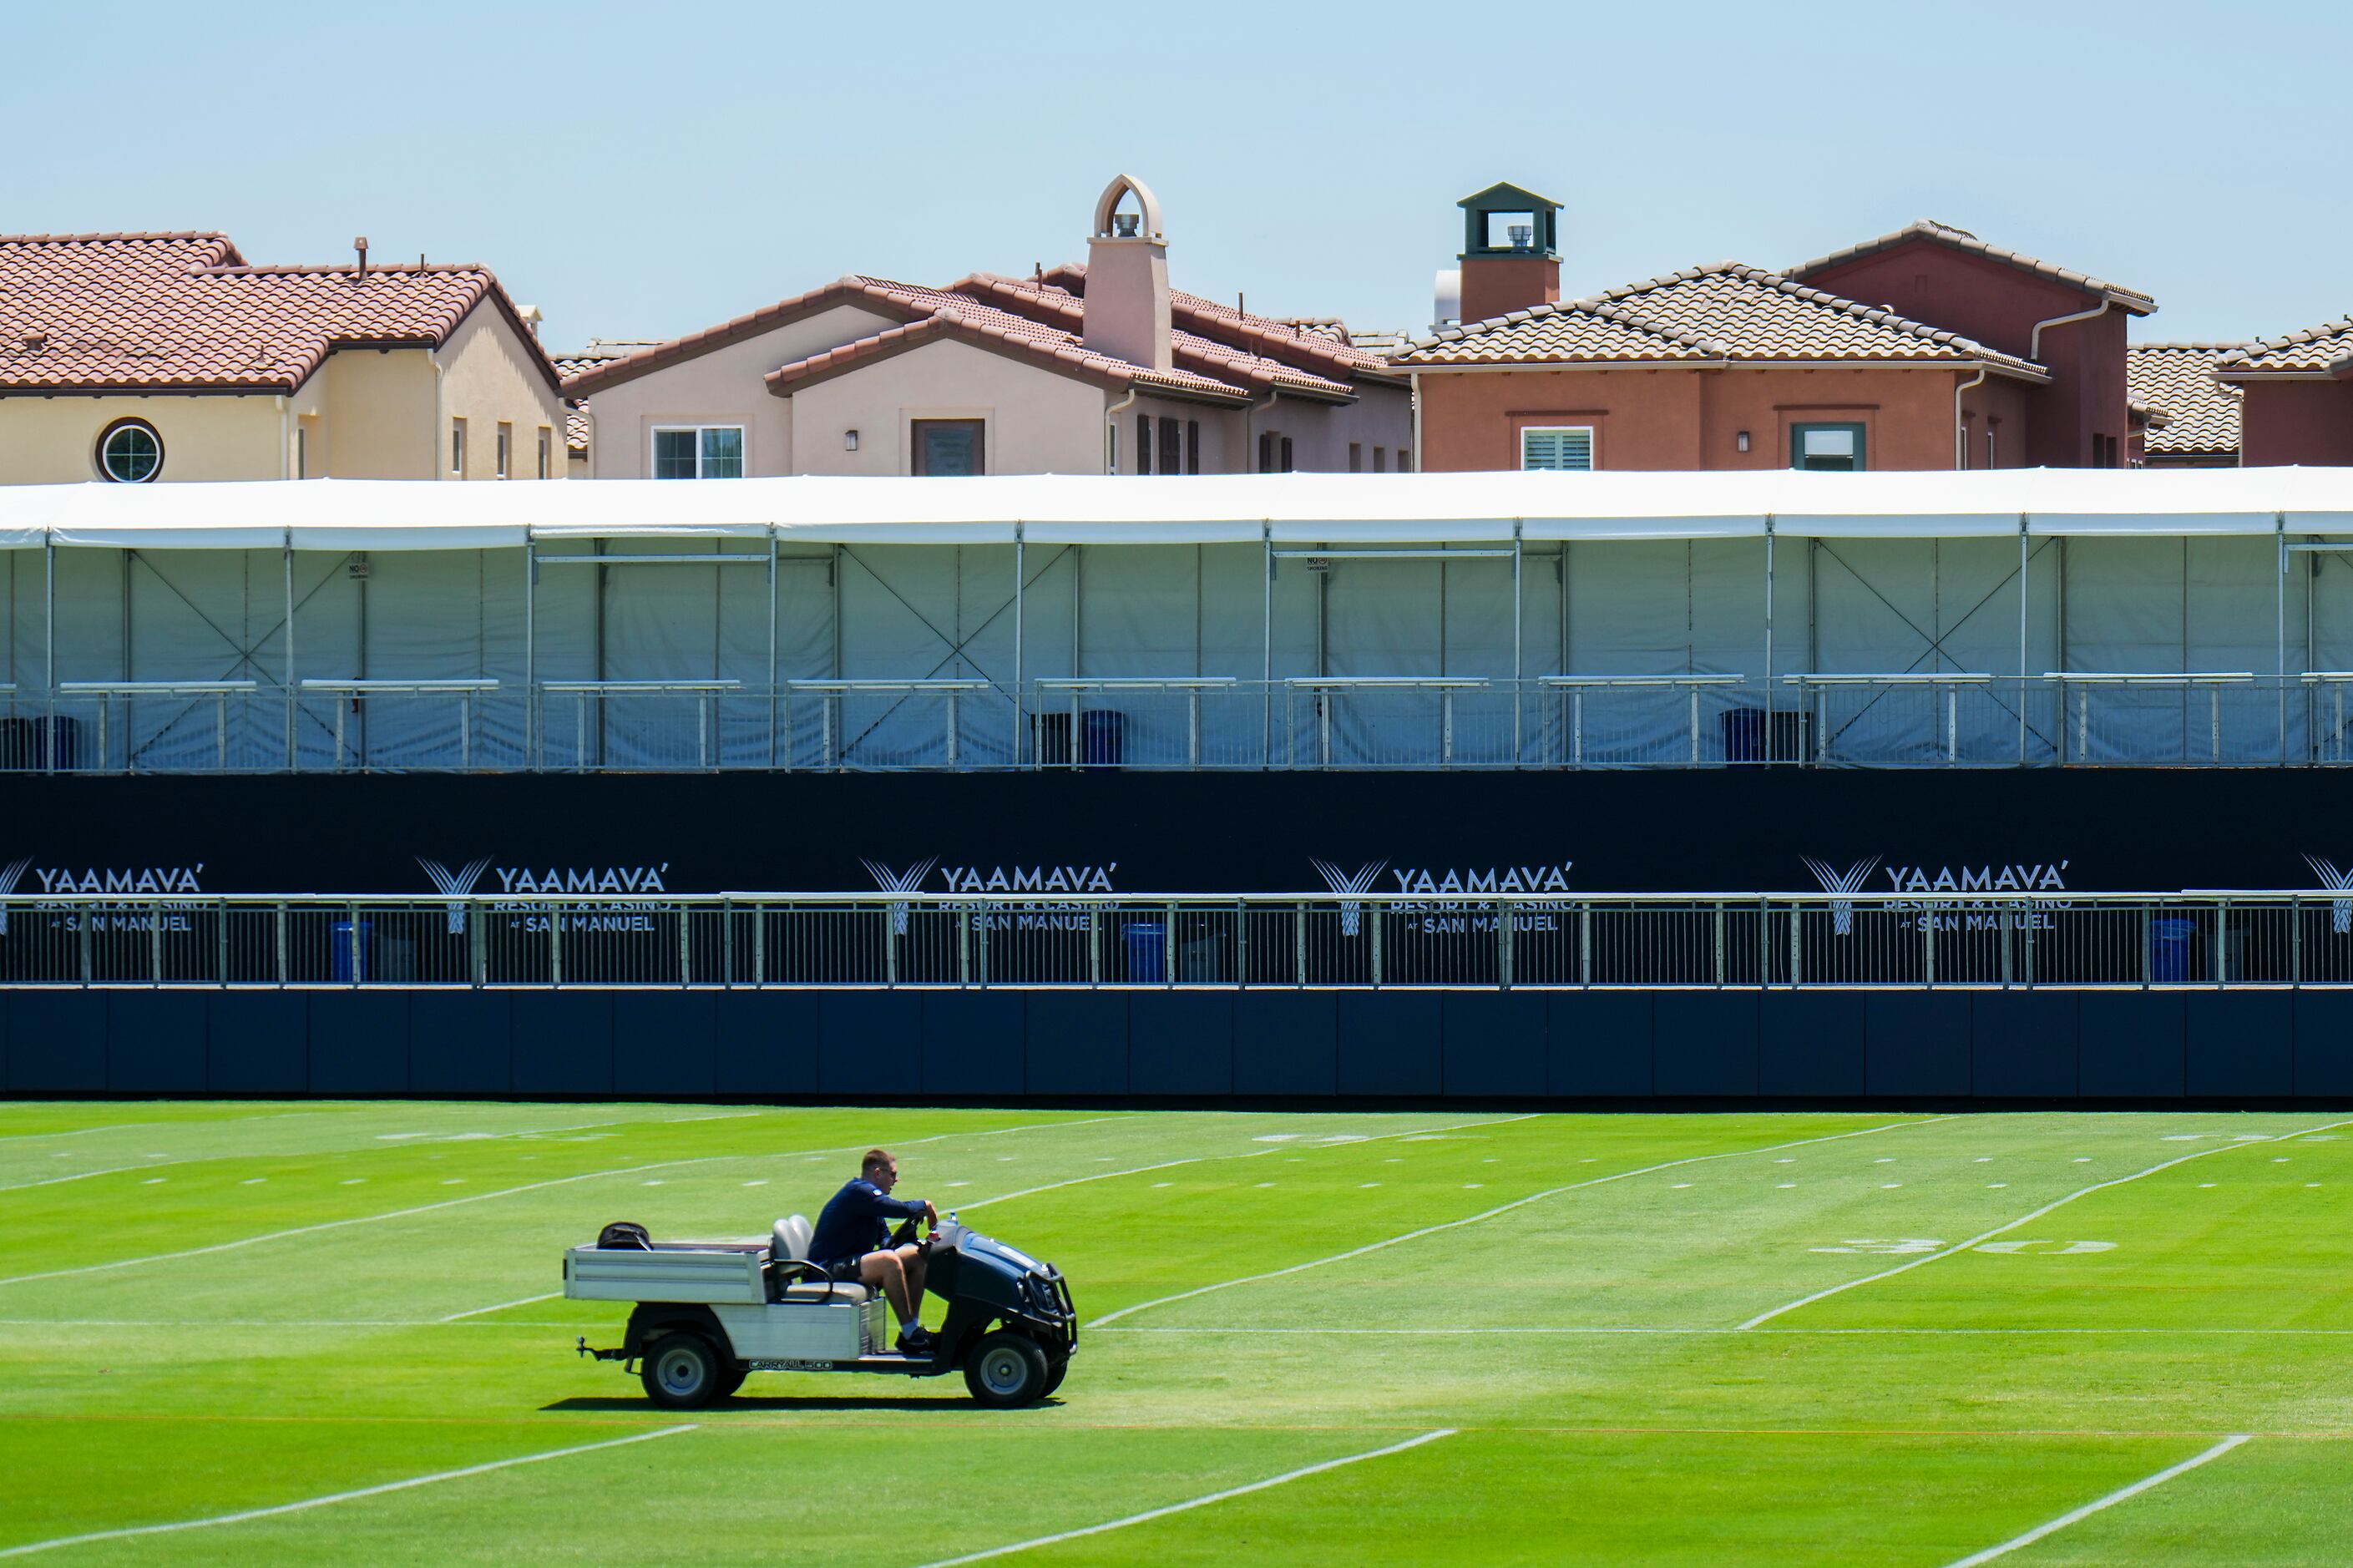
<svg viewBox="0 0 2353 1568"><path fill-rule="evenodd" d="M849 275L565 381L593 478L1249 473L1405 464L1405 374L1332 323L1169 287L1120 177L1085 266L944 290Z"/></svg>

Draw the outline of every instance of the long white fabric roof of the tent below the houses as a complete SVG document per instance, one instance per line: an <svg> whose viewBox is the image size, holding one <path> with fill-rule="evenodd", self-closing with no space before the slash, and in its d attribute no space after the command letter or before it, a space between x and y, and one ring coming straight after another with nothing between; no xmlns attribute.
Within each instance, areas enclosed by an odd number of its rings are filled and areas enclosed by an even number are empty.
<svg viewBox="0 0 2353 1568"><path fill-rule="evenodd" d="M0 549L1402 544L1525 539L2353 534L2353 469L1979 473L1266 473L1202 478L252 480L0 487Z"/></svg>

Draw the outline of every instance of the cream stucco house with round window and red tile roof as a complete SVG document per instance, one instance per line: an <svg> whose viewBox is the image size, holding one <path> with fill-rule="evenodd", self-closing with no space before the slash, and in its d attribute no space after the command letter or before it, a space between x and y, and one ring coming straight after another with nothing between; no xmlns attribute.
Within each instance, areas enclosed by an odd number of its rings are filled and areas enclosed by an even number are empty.
<svg viewBox="0 0 2353 1568"><path fill-rule="evenodd" d="M0 235L0 483L565 478L555 367L480 266Z"/></svg>

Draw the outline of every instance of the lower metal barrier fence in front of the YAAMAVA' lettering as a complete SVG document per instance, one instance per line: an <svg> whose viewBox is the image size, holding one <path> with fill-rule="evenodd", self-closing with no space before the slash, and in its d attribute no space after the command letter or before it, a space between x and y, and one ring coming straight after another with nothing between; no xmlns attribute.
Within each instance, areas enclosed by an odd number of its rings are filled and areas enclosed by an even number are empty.
<svg viewBox="0 0 2353 1568"><path fill-rule="evenodd" d="M0 897L5 986L2353 986L2348 892Z"/></svg>

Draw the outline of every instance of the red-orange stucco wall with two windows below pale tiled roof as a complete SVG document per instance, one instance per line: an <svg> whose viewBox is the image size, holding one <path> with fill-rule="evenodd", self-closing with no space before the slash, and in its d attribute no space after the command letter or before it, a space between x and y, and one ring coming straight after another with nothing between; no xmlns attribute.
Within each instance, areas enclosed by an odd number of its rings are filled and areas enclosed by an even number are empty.
<svg viewBox="0 0 2353 1568"><path fill-rule="evenodd" d="M1861 424L1873 469L1953 466L1953 370L1475 370L1421 372L1421 466L1518 469L1532 424L1593 426L1595 469L1786 469L1793 424ZM2002 419L2000 466L2019 466L2017 384L1962 405ZM1748 452L1739 450L1748 431ZM1972 466L1984 464L1984 436Z"/></svg>

